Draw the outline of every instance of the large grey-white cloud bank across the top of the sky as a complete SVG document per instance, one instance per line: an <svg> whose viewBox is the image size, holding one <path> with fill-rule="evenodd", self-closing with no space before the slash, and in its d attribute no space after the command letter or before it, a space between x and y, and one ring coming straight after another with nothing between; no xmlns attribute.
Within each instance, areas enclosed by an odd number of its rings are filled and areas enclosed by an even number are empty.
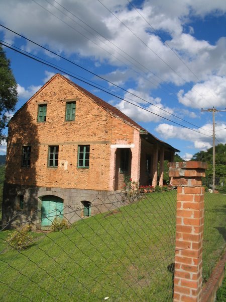
<svg viewBox="0 0 226 302"><path fill-rule="evenodd" d="M68 17L66 17L63 14L65 11L57 4L55 4L56 7L48 3L42 5L50 13L34 2L28 3L25 0L2 2L0 19L6 26L16 29L17 32L54 49L55 52L62 55L79 54L80 56L91 57L97 65L98 62L107 62L116 69L126 64L128 68L132 67L149 80L155 73L157 77L161 78L161 80L155 78L155 81L160 83L167 81L181 85L185 81L197 82L194 74L188 71L171 49L156 36L156 33L141 15L134 9L128 9L126 0L114 2L107 0L104 5L114 12L143 42L99 2L92 0L85 2L61 1L61 5L78 16L88 26L68 12L66 14ZM226 39L222 38L216 45L211 45L207 41L195 39L192 36L192 28L189 29L189 33L184 33L183 28L186 23L189 23L190 17L194 15L204 17L210 12L211 14L221 14L226 11L225 7L224 0L214 2L206 2L206 0L198 2L195 0L172 0L170 2L168 0L146 0L138 11L152 27L164 31L169 36L167 43L180 53L185 64L194 71L199 79L206 81L206 77L210 74L225 74L226 42L224 40ZM107 40L104 40L97 32ZM5 31L5 39L12 41L15 37L16 35ZM33 52L40 51L32 43L25 44L24 48ZM176 72L160 60L156 54ZM177 73L185 81L178 77ZM128 75L130 76L130 74ZM135 73L133 77L135 81L138 80Z"/></svg>

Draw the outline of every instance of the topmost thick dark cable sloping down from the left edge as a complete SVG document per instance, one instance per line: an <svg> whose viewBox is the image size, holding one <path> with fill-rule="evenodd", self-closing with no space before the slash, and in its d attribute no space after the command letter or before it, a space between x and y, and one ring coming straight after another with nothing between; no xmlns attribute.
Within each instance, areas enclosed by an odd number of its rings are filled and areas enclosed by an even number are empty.
<svg viewBox="0 0 226 302"><path fill-rule="evenodd" d="M54 52L54 51L52 51L52 50L50 50L50 49L48 49L48 48L46 48L46 47L44 47L44 46L42 46L42 45L40 45L40 44L38 44L38 43L32 41L31 39L26 38L25 36L23 36L23 35L21 35L21 34L15 32L15 31L9 29L8 27L6 27L6 26L4 26L4 25L2 25L2 24L0 24L0 26L2 26L2 27L4 27L4 28L6 28L7 30L9 30L9 31L11 31L11 32L13 32L13 33L15 33L15 34L17 34L18 36L20 36L20 37L22 37L22 38L28 40L29 42L32 42L32 43L34 43L35 45L37 45L37 46L39 46L39 47L41 47L41 48L43 48L43 49L49 51L50 53L52 53L52 54L54 54L54 55L56 55L56 56L58 56L58 57L60 57L60 58L62 58L62 59L64 59L64 60L68 61L69 63L72 63L72 64L74 64L75 66L77 66L77 67L79 67L79 68L81 68L81 69L83 69L83 70L85 70L85 71L87 71L87 72L89 72L89 73L95 75L95 77L98 77L99 79L104 80L104 81L110 83L111 85L113 85L113 86L115 86L115 87L117 87L117 88L119 88L119 89L121 89L121 90L123 90L123 91L129 93L130 95L133 95L134 97L136 97L136 98L138 98L138 99L140 99L140 100L142 100L142 101L144 101L144 102L146 102L146 103L148 103L148 104L150 104L150 105L152 105L152 106L154 106L154 107L156 107L156 108L158 108L158 109L160 109L160 110L166 112L167 115L172 115L172 116L174 116L175 118L177 118L177 119L179 119L179 120L181 120L181 121L184 121L184 122L186 122L186 123L188 123L188 124L190 124L190 125L192 125L192 126L198 128L198 129L201 129L201 130L204 130L204 131L209 132L208 130L202 129L202 128L199 127L199 126L197 126L197 125L195 125L195 124L193 124L193 123L191 123L191 122L188 122L188 121L186 121L186 120L184 120L184 119L182 119L182 118L176 116L175 114L173 114L173 113L171 113L171 112L169 112L169 111L163 109L163 108L158 107L157 105L155 105L155 104L153 104L153 103L151 103L151 102L145 100L144 98L141 98L141 97L137 96L136 94L134 94L134 93L132 93L132 92L130 92L130 91L127 91L127 90L124 89L123 87L120 87L119 85L117 85L117 84L115 84L115 83L113 83L113 82L110 82L110 81L104 79L104 78L101 77L100 75L98 75L98 74L96 74L96 73L94 73L94 72L92 72L92 71L90 71L90 70L88 70L88 69L82 67L82 66L79 65L79 64L76 64L75 62L73 62L73 61L71 61L71 60L69 60L69 59L67 59L67 58L65 58L65 57L63 57L63 56L57 54L56 52ZM85 79L85 80L86 80L86 79ZM104 89L105 89L105 88L104 88ZM128 99L129 99L129 98L128 98ZM123 99L123 100L125 100L125 99ZM164 117L163 117L163 118L164 118Z"/></svg>

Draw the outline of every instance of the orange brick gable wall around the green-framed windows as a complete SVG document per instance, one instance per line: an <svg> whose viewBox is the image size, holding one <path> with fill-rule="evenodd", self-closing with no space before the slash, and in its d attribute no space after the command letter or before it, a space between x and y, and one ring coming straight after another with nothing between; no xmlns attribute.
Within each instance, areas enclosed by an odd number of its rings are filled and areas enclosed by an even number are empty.
<svg viewBox="0 0 226 302"><path fill-rule="evenodd" d="M65 121L66 100L76 100L74 121ZM46 122L37 122L38 104ZM110 144L133 143L133 127L96 105L60 76L53 78L9 125L6 182L33 186L108 190ZM89 169L77 168L79 144L90 144ZM22 168L22 146L31 145L31 167ZM48 146L59 145L58 168L48 168Z"/></svg>

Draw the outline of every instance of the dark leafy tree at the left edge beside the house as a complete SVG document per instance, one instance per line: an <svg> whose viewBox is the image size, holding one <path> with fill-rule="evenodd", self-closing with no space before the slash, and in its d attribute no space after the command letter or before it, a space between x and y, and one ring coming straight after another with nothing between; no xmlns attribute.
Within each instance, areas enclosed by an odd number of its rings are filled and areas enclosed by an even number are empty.
<svg viewBox="0 0 226 302"><path fill-rule="evenodd" d="M17 83L10 68L10 60L0 44L0 144L5 138L3 129L8 122L8 114L17 104Z"/></svg>

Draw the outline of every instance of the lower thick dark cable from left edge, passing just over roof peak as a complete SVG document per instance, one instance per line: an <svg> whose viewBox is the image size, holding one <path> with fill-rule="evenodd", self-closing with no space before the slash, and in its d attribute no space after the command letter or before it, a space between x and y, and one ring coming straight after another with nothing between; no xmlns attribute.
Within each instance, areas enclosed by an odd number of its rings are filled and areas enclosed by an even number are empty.
<svg viewBox="0 0 226 302"><path fill-rule="evenodd" d="M9 49L12 49L12 50L14 50L14 51L16 51L16 52L18 52L18 53L20 53L20 54L23 54L23 55L25 55L25 56L27 56L27 57L29 57L29 58L31 58L31 59L37 61L37 62L40 62L40 63L42 63L42 64L45 64L45 65L47 65L47 66L49 66L49 67L51 67L51 68L54 68L54 69L56 69L56 70L58 70L58 71L60 71L60 72L63 71L63 70L62 70L61 68L59 68L59 67L53 66L52 64L47 63L47 62L45 62L45 61L41 61L40 59L35 58L35 57L33 57L33 56L31 56L31 55L28 55L28 54L26 54L26 53L23 53L22 51L20 51L20 50L18 50L18 49L14 49L13 47L11 47L11 46L9 46L9 45L3 43L3 42L1 42L1 44L4 45L5 47L9 48ZM64 72L64 71L63 71L63 72ZM93 84L90 84L90 83L88 83L87 81L81 80L81 79L75 77L74 75L72 75L72 74L70 74L70 73L67 73L67 72L64 72L64 73L67 74L67 75L69 75L70 77L72 77L72 78L78 80L78 81L81 81L81 82L83 82L83 83L85 83L85 84L91 86L91 87L100 89L99 87L97 87L97 86L95 86L95 85L93 85ZM110 93L110 92L105 91L104 89L100 89L100 90L103 91L103 92L105 92L105 93L107 93L107 94L109 94L109 95L111 95L111 96L114 96L114 97L116 97L116 98L118 98L118 99L121 99L121 100L123 100L123 101L125 101L125 102L127 102L127 103L129 103L129 104L131 104L131 105L133 105L133 106L136 106L136 107L138 107L138 108L140 108L140 109L142 109L142 110L145 110L145 111L147 111L147 112L150 112L150 113L152 113L152 114L154 114L154 115L156 115L156 116L158 116L158 117L161 117L161 118L163 118L163 119L165 119L165 120L167 120L167 121L170 121L170 122L172 122L172 123L174 123L174 124L176 124L176 125L179 125L179 126L181 126L181 127L183 127L183 128L186 128L186 129L189 129L189 130L194 131L194 132L196 132L196 133L199 133L199 134L202 134L202 135L211 137L211 136L209 136L209 135L207 135L207 134L201 133L201 132L199 132L199 131L197 131L197 130L194 130L194 129L192 129L192 128L189 128L189 127L187 127L187 126L184 126L184 125L182 125L182 124L179 124L179 123L177 123L177 122L175 122L175 121L172 121L172 120L170 120L170 119L168 119L168 118L166 118L166 117L163 117L163 116L161 116L161 115L159 115L159 114L157 114L157 113L154 113L154 112L152 112L152 111L150 111L150 110L148 110L148 109L145 109L145 108L143 108L143 107L141 107L141 106L139 106L139 105L136 105L136 104L134 104L134 103L132 103L132 102L130 102L130 101L127 101L127 100L125 100L125 99L123 99L123 98L120 98L119 96L116 96L116 95L113 94L113 93Z"/></svg>

